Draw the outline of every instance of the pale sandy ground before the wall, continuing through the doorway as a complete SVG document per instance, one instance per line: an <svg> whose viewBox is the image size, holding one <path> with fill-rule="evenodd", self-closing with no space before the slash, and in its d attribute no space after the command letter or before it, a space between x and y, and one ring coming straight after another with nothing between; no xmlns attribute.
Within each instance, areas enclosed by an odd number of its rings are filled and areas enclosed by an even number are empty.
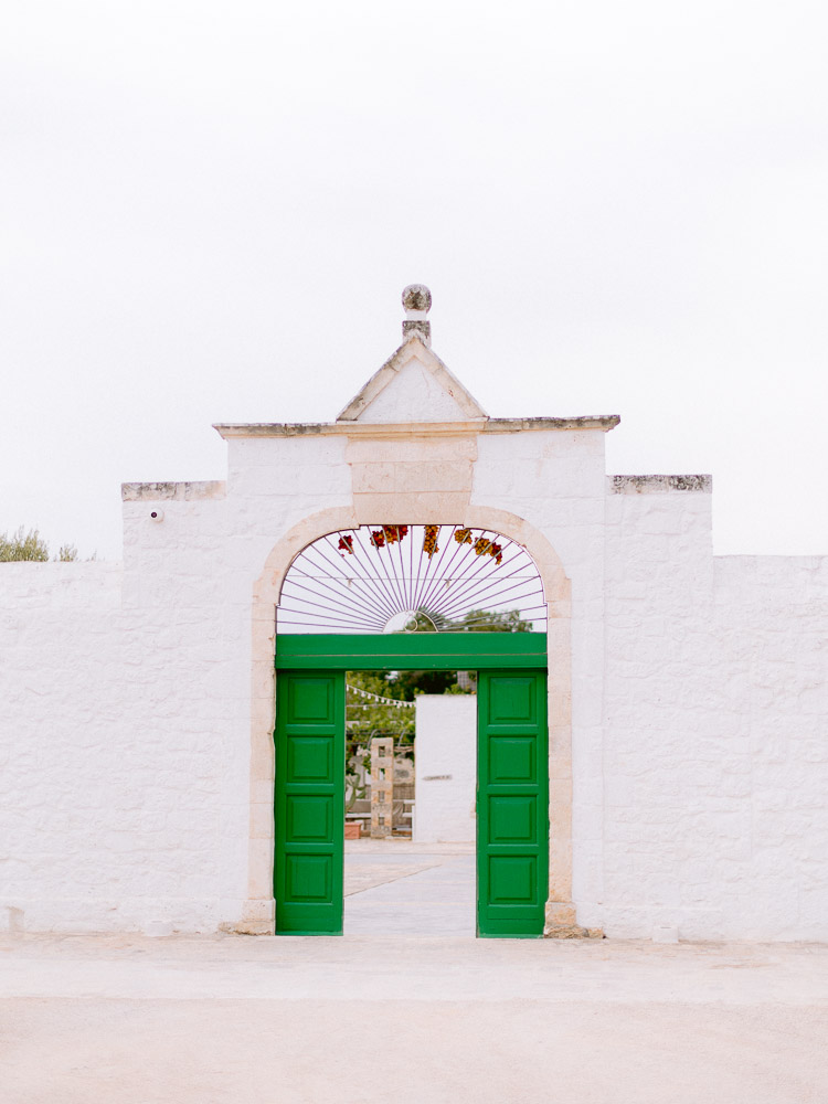
<svg viewBox="0 0 828 1104"><path fill-rule="evenodd" d="M375 932L0 941L1 1104L828 1104L828 947L383 931L467 911L410 856Z"/></svg>

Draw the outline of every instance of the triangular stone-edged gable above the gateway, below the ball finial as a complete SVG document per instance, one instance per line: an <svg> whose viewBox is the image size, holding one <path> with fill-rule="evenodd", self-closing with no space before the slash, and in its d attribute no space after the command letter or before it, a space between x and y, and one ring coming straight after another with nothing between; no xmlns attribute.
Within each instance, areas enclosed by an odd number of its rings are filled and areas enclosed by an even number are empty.
<svg viewBox="0 0 828 1104"><path fill-rule="evenodd" d="M415 330L374 372L338 422L468 422L488 414Z"/></svg>

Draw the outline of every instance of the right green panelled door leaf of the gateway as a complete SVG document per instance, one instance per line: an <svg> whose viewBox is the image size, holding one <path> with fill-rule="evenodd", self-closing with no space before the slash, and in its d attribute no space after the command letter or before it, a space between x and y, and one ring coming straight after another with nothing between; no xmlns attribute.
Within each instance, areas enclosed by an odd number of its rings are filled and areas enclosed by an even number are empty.
<svg viewBox="0 0 828 1104"><path fill-rule="evenodd" d="M543 934L549 887L546 676L480 671L477 934Z"/></svg>

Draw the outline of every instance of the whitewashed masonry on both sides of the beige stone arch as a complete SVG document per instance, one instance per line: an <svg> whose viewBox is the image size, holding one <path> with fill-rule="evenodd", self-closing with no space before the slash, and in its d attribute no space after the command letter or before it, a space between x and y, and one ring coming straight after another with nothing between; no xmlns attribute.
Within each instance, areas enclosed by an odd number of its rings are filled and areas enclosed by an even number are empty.
<svg viewBox="0 0 828 1104"><path fill-rule="evenodd" d="M12 923L238 920L253 587L291 526L352 503L347 448L233 439L226 486L127 486L123 565L0 565ZM471 506L528 519L572 583L578 922L828 938L828 561L715 559L707 484L604 473L601 431L477 436Z"/></svg>

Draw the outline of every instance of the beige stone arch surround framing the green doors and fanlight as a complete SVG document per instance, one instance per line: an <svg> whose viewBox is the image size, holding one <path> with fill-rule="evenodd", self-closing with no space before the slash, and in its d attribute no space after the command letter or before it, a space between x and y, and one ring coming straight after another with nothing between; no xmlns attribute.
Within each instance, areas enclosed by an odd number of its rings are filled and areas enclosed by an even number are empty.
<svg viewBox="0 0 828 1104"><path fill-rule="evenodd" d="M439 524L445 518L418 520ZM250 838L247 900L235 930L247 934L274 931L274 743L276 704L276 606L294 558L326 533L360 524L354 508L321 510L294 526L274 545L256 581L252 605ZM549 649L549 786L550 871L546 927L575 923L572 905L572 725L570 582L561 560L546 539L526 519L506 510L466 505L459 520L473 529L502 533L532 556L543 583L548 612Z"/></svg>

